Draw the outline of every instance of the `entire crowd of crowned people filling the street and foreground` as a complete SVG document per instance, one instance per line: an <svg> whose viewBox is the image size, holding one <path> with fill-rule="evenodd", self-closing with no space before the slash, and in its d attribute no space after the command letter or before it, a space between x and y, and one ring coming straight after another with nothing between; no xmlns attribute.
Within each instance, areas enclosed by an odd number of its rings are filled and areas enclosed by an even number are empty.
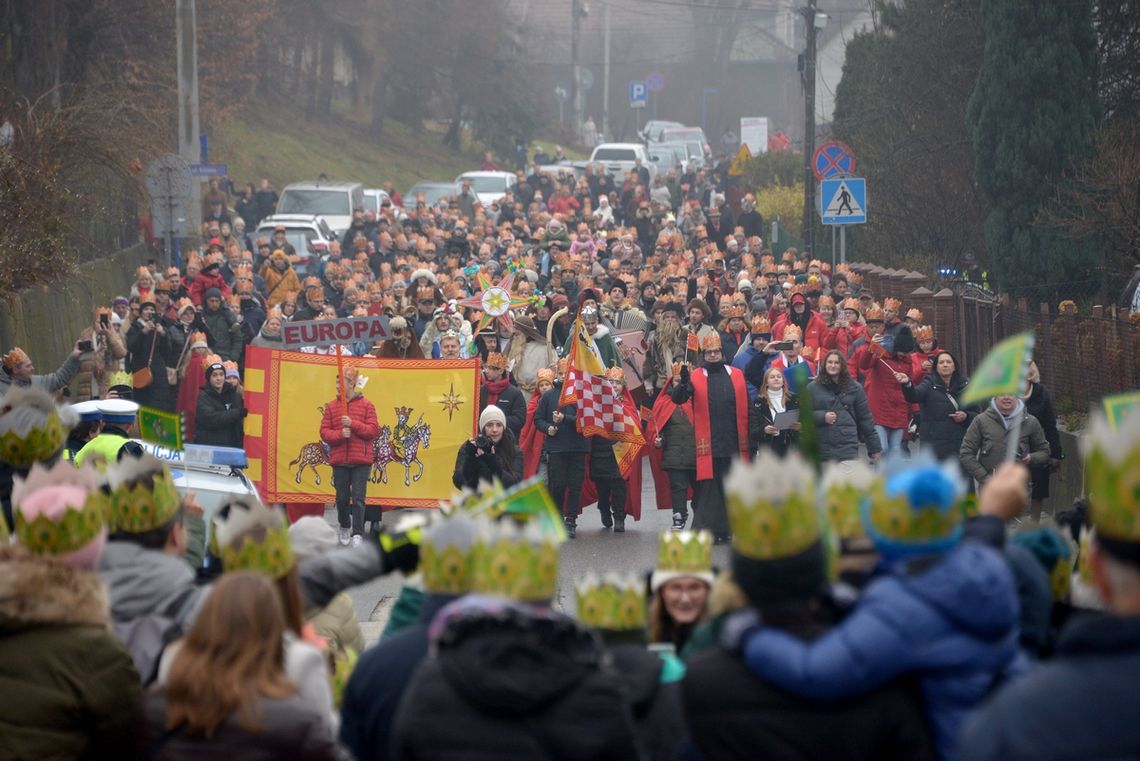
<svg viewBox="0 0 1140 761"><path fill-rule="evenodd" d="M393 193L309 256L283 230L250 240L219 193L202 251L139 268L56 373L9 350L13 756L1134 753L1140 418L1090 436L1091 502L1058 516L1064 532L1008 537L1040 518L1062 457L1040 375L963 404L967 378L919 310L771 251L754 199L726 203L724 170L646 187L638 167L616 185L536 166L486 208ZM481 332L459 306L480 273L514 275L527 301ZM320 434L339 534L235 496L206 542L201 507L132 441L139 406L182 412L189 441L241 447L245 347L280 346L291 320L366 314L390 318L388 339L302 351L482 360L449 509L366 532L376 417L350 368ZM625 531L643 468L562 403L575 342L644 417L652 507L673 516L646 578L575 580L577 617L555 605L561 542L595 500ZM532 477L561 522L512 512ZM361 652L343 590L393 570L410 578Z"/></svg>

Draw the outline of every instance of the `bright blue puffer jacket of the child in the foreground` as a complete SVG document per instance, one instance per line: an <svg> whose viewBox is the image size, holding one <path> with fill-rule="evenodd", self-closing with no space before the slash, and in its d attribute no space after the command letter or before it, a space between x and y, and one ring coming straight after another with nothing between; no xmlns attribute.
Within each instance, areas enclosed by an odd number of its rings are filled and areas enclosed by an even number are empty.
<svg viewBox="0 0 1140 761"><path fill-rule="evenodd" d="M872 582L852 614L820 639L805 643L762 628L744 640L743 654L762 679L819 701L915 673L945 760L955 758L970 710L1026 666L1013 576L999 551L975 541L925 571Z"/></svg>

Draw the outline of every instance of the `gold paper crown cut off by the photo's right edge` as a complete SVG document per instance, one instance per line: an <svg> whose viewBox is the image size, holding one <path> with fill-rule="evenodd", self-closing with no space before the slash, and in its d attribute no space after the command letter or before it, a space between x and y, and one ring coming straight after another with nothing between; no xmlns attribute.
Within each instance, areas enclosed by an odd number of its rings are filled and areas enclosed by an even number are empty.
<svg viewBox="0 0 1140 761"><path fill-rule="evenodd" d="M1081 456L1097 535L1140 542L1140 414L1129 415L1115 431L1096 415L1081 440Z"/></svg>

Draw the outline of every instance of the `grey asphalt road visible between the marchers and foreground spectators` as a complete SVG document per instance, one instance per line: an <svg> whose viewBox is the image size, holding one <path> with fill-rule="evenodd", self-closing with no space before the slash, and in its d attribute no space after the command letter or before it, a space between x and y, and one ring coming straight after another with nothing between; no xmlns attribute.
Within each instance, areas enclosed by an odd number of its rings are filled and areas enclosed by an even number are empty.
<svg viewBox="0 0 1140 761"><path fill-rule="evenodd" d="M561 568L559 573L559 594L554 607L573 614L573 584L589 572L603 574L608 571L619 573L648 574L657 564L658 535L669 531L673 513L668 509L657 509L653 496L653 481L648 470L642 483L642 519L626 521L625 533L616 534L602 527L602 521L596 506L587 507L578 519L578 538L568 541L562 547ZM384 514L384 523L394 525L399 516L413 510L391 510ZM335 523L335 512L328 510L326 518ZM690 512L690 522L692 512ZM712 560L724 567L728 560L727 547L715 547ZM350 590L356 605L357 617L369 644L375 641L388 621L389 611L399 595L402 576L385 576Z"/></svg>

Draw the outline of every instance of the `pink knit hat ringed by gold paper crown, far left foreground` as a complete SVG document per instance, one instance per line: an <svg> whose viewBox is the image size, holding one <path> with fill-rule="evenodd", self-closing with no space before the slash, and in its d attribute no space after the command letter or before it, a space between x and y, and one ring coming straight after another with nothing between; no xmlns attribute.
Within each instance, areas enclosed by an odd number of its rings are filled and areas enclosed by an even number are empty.
<svg viewBox="0 0 1140 761"><path fill-rule="evenodd" d="M36 555L51 555L79 568L93 568L107 542L107 493L90 466L33 465L11 490L16 537Z"/></svg>

